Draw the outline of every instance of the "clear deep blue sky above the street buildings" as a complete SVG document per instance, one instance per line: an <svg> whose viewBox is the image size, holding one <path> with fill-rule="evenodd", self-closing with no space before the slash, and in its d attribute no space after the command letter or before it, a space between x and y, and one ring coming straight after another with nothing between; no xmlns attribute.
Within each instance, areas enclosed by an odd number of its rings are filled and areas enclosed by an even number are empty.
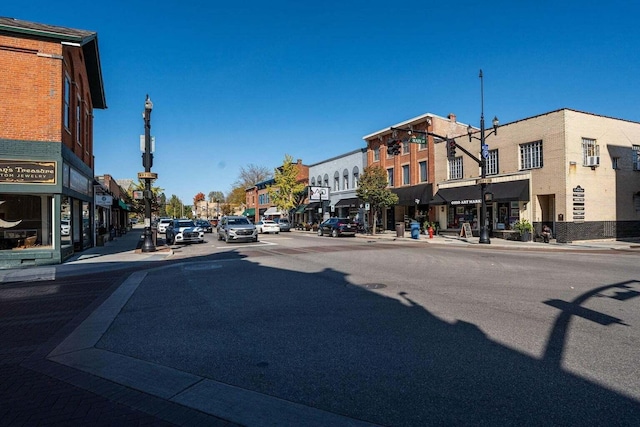
<svg viewBox="0 0 640 427"><path fill-rule="evenodd" d="M633 1L5 2L0 15L96 31L108 109L96 174L153 171L167 196L231 189L285 154L314 164L400 121L450 112L479 126L573 108L640 121Z"/></svg>

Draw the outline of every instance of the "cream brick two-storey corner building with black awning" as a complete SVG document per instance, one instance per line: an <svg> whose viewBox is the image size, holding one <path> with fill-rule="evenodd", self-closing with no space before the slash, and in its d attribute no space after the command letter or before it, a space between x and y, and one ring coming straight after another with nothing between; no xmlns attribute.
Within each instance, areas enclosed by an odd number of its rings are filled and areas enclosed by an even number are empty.
<svg viewBox="0 0 640 427"><path fill-rule="evenodd" d="M480 152L477 140L456 141ZM640 123L560 109L502 125L486 143L495 235L527 219L559 242L640 236ZM448 160L444 143L434 149L441 228L479 227L478 164L463 153Z"/></svg>

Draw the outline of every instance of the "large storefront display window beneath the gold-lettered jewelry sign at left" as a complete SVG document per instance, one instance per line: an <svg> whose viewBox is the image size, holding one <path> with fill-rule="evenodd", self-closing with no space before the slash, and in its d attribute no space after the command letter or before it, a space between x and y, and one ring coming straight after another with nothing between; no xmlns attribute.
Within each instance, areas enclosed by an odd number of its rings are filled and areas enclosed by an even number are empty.
<svg viewBox="0 0 640 427"><path fill-rule="evenodd" d="M51 246L51 207L51 196L0 194L0 249Z"/></svg>

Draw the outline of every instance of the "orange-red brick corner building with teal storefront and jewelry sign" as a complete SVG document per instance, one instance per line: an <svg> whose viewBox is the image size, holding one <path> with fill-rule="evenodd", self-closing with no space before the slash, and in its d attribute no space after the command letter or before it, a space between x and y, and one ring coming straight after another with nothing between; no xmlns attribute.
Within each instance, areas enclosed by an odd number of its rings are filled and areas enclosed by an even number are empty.
<svg viewBox="0 0 640 427"><path fill-rule="evenodd" d="M93 244L97 34L0 18L0 70L0 266L59 263Z"/></svg>

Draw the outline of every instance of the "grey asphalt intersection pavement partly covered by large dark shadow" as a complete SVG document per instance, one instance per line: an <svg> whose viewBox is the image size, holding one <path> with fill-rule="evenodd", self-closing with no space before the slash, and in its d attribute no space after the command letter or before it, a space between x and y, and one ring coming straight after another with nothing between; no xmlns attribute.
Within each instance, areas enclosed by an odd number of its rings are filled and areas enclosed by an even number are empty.
<svg viewBox="0 0 640 427"><path fill-rule="evenodd" d="M207 240L51 360L241 425L640 419L637 253Z"/></svg>

